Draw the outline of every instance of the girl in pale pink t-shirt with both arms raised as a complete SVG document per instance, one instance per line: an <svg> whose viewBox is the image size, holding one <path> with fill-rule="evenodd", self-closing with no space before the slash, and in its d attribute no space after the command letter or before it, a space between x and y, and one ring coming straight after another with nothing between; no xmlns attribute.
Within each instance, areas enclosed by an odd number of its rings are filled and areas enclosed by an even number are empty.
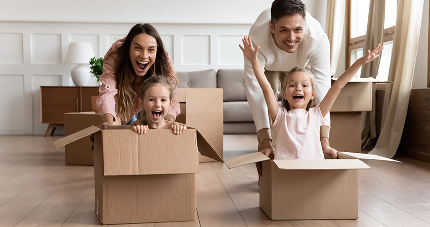
<svg viewBox="0 0 430 227"><path fill-rule="evenodd" d="M383 49L378 44L372 51L358 59L343 73L317 105L313 75L303 68L293 68L281 80L283 107L278 105L273 90L257 60L259 46L252 46L251 38L242 39L239 45L245 57L251 62L255 77L263 90L269 110L270 123L276 131L275 159L324 159L319 140L319 129L337 95L360 67L373 61ZM266 152L269 156L272 152ZM259 169L261 175L261 169Z"/></svg>

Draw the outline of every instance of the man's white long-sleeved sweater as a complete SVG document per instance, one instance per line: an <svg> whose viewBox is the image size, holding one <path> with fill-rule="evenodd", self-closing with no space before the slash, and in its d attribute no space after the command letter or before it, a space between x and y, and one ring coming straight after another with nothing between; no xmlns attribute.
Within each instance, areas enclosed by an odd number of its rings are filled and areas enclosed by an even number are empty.
<svg viewBox="0 0 430 227"><path fill-rule="evenodd" d="M279 49L272 38L269 21L270 8L263 11L249 30L254 47L260 46L258 59L264 70L288 72L294 67L305 67L308 62L315 76L317 102L320 103L330 88L330 43L320 23L308 12L305 35L294 53ZM247 98L257 131L270 128L267 105L251 63L245 60ZM330 125L330 116L325 118Z"/></svg>

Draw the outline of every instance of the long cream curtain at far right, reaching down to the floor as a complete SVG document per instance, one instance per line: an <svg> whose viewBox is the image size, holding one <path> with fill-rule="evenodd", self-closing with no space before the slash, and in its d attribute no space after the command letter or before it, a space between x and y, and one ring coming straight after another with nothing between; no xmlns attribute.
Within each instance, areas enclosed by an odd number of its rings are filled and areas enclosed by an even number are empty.
<svg viewBox="0 0 430 227"><path fill-rule="evenodd" d="M372 154L392 158L399 146L412 87L423 1L397 2L397 22L388 77L393 84L388 84L385 90L381 134L375 148L370 151Z"/></svg>

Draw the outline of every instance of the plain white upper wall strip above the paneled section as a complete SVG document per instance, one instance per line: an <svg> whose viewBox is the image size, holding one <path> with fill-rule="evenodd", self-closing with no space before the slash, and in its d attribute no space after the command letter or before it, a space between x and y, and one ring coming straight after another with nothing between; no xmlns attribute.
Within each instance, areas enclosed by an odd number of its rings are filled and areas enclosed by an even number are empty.
<svg viewBox="0 0 430 227"><path fill-rule="evenodd" d="M273 0L13 0L0 20L103 23L253 23Z"/></svg>

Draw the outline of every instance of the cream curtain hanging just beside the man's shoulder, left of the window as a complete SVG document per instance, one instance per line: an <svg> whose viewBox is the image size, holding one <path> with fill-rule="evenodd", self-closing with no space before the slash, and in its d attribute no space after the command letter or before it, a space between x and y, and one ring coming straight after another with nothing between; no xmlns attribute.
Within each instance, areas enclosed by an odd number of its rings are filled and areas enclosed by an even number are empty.
<svg viewBox="0 0 430 227"><path fill-rule="evenodd" d="M339 62L344 22L345 0L328 0L325 32L327 33L328 40L330 41L331 75L336 73L337 63Z"/></svg>

